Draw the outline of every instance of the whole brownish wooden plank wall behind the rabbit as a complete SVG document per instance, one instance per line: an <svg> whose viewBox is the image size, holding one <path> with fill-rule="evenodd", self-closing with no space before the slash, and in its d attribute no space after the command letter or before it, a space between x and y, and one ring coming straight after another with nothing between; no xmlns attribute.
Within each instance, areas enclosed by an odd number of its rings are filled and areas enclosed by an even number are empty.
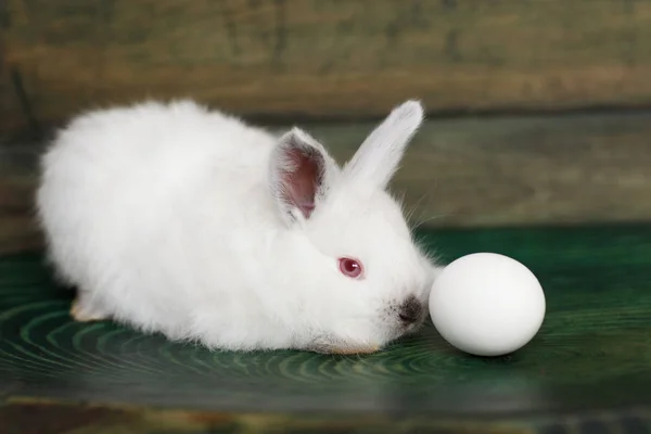
<svg viewBox="0 0 651 434"><path fill-rule="evenodd" d="M51 128L148 97L302 123L342 157L420 98L394 183L416 222L651 219L650 0L3 0L0 25L0 252L40 243Z"/></svg>

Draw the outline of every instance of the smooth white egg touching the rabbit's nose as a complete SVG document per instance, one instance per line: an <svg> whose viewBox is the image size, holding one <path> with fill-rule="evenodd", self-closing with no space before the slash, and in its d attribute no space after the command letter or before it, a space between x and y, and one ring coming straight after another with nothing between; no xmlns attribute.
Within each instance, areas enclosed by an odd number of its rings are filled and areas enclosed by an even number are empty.
<svg viewBox="0 0 651 434"><path fill-rule="evenodd" d="M545 309L542 288L532 271L495 253L450 263L430 293L438 333L476 356L500 356L526 345L538 333Z"/></svg>

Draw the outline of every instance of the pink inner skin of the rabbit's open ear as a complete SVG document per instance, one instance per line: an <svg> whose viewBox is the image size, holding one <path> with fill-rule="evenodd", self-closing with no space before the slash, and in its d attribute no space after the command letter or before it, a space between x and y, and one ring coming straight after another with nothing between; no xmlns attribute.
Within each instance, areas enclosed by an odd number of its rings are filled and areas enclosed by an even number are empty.
<svg viewBox="0 0 651 434"><path fill-rule="evenodd" d="M288 150L286 158L293 171L282 174L283 200L301 209L304 217L309 217L315 209L315 196L319 187L319 155L302 152L298 149Z"/></svg>

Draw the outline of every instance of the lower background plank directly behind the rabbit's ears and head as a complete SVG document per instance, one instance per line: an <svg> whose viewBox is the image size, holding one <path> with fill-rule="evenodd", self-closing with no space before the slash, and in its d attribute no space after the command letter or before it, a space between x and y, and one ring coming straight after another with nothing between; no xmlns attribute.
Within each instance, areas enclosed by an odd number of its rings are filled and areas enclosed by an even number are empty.
<svg viewBox="0 0 651 434"><path fill-rule="evenodd" d="M344 162L373 123L305 126ZM427 120L393 191L414 225L651 220L651 113ZM40 145L0 146L0 252L37 247Z"/></svg>

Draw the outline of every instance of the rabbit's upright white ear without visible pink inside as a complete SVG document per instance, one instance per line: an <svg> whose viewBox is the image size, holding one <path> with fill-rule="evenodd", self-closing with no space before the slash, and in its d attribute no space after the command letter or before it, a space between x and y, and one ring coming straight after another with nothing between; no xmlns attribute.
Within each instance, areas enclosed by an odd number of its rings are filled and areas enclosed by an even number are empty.
<svg viewBox="0 0 651 434"><path fill-rule="evenodd" d="M395 107L361 143L344 168L344 174L384 189L423 116L423 107L419 101L410 100Z"/></svg>

